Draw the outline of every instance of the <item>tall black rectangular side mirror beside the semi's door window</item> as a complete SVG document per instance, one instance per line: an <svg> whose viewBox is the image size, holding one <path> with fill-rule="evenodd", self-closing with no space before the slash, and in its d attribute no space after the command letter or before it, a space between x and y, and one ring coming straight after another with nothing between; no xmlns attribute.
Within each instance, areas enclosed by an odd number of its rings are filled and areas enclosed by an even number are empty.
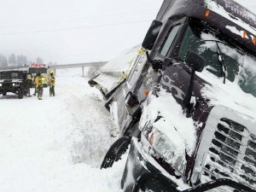
<svg viewBox="0 0 256 192"><path fill-rule="evenodd" d="M159 20L153 20L151 26L148 29L146 37L143 40L143 48L151 50L154 46L154 42L160 32L161 26L163 25L162 22Z"/></svg>

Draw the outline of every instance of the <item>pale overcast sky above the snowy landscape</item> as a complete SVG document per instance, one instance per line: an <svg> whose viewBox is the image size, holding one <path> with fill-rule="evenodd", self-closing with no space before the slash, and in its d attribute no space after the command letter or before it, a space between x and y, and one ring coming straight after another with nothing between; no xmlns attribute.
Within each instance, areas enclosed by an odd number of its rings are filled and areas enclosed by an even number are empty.
<svg viewBox="0 0 256 192"><path fill-rule="evenodd" d="M236 0L256 10L256 0ZM163 0L0 0L0 53L108 61L140 44Z"/></svg>

